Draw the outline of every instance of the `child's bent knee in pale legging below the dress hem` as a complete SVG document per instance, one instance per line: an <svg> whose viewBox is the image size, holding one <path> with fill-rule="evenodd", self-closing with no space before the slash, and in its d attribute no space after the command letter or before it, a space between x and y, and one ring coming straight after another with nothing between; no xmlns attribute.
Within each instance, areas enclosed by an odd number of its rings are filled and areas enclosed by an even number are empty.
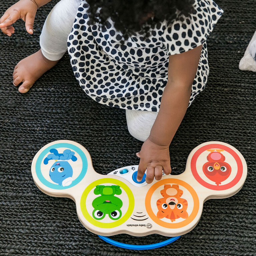
<svg viewBox="0 0 256 256"><path fill-rule="evenodd" d="M158 112L126 109L125 113L129 133L139 141L146 141Z"/></svg>

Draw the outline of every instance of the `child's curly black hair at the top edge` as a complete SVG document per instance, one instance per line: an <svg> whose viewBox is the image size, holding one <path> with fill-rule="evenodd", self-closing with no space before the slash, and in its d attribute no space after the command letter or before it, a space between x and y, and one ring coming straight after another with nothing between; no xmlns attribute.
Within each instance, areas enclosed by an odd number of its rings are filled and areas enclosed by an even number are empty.
<svg viewBox="0 0 256 256"><path fill-rule="evenodd" d="M110 17L124 40L139 32L145 39L150 36L150 28L167 20L183 21L193 11L194 0L87 0L89 23L106 25ZM123 40L120 40L124 43Z"/></svg>

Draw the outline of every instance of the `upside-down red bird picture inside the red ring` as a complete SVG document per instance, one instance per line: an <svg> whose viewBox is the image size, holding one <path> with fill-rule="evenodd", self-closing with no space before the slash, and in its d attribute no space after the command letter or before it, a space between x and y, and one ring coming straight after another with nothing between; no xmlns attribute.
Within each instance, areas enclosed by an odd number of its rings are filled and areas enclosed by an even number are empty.
<svg viewBox="0 0 256 256"><path fill-rule="evenodd" d="M207 156L208 162L203 165L203 172L208 179L215 182L217 186L225 181L231 174L231 167L224 162L225 157L220 153L221 149L207 150L211 153ZM217 151L217 152L216 152Z"/></svg>

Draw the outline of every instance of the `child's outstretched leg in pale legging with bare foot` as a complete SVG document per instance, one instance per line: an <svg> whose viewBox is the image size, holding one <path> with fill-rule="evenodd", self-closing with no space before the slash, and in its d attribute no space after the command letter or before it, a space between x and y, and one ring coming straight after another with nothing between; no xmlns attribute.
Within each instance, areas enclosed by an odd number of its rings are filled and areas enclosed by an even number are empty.
<svg viewBox="0 0 256 256"><path fill-rule="evenodd" d="M55 66L67 49L67 37L81 0L61 0L45 20L40 35L41 49L22 59L14 68L13 84L22 83L19 91L27 92L34 82Z"/></svg>

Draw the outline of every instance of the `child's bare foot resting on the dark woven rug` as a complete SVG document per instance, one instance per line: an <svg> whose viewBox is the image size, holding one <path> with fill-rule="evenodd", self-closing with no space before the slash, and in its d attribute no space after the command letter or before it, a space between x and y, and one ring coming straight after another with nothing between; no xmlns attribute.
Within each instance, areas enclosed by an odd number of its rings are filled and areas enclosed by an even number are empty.
<svg viewBox="0 0 256 256"><path fill-rule="evenodd" d="M41 49L34 54L22 59L14 68L13 84L19 87L19 92L27 92L34 82L42 76L47 70L57 64L58 60L52 61L46 59Z"/></svg>

